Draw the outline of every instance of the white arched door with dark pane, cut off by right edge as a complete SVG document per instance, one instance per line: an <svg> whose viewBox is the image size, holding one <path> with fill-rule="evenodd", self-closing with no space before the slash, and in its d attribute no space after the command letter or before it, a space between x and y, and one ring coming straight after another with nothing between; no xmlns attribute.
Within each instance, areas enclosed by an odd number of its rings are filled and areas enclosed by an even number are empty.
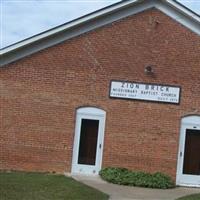
<svg viewBox="0 0 200 200"><path fill-rule="evenodd" d="M181 121L176 183L200 187L200 116Z"/></svg>

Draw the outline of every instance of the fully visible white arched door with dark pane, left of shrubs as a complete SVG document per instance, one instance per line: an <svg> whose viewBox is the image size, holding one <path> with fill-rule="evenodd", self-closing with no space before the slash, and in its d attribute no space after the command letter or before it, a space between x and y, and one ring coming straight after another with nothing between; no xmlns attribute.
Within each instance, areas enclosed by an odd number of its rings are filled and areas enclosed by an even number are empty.
<svg viewBox="0 0 200 200"><path fill-rule="evenodd" d="M106 112L93 107L76 113L72 174L97 175L101 169Z"/></svg>

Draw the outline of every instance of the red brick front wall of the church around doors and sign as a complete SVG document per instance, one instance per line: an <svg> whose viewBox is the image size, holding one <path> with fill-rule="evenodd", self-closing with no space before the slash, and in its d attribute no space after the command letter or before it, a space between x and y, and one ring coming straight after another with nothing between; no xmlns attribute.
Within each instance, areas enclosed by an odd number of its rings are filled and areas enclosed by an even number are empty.
<svg viewBox="0 0 200 200"><path fill-rule="evenodd" d="M1 68L0 168L70 172L76 109L95 106L103 166L175 177L180 119L200 112L199 55L198 35L149 10ZM111 79L179 85L181 104L110 99Z"/></svg>

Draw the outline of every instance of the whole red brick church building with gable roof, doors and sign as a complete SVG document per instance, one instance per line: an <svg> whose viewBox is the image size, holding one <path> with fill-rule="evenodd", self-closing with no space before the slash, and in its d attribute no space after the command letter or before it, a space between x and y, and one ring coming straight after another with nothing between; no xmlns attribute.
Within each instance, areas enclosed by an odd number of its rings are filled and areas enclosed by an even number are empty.
<svg viewBox="0 0 200 200"><path fill-rule="evenodd" d="M126 0L1 50L0 169L163 172L200 186L200 16Z"/></svg>

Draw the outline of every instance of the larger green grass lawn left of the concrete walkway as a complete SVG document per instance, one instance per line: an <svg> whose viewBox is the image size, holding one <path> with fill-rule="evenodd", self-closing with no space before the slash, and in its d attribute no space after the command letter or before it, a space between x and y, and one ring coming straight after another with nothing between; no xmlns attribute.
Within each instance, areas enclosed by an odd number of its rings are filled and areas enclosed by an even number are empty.
<svg viewBox="0 0 200 200"><path fill-rule="evenodd" d="M0 200L107 200L108 195L63 175L0 171Z"/></svg>

